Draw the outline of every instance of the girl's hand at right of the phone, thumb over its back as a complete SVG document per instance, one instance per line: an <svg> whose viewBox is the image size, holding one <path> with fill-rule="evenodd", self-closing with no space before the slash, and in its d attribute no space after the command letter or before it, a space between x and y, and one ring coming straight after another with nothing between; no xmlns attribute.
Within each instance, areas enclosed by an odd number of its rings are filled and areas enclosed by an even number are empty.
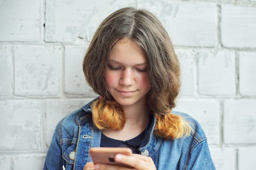
<svg viewBox="0 0 256 170"><path fill-rule="evenodd" d="M152 158L145 157L139 154L132 154L132 157L117 154L115 156L115 162L123 163L133 168L128 168L125 166L112 166L112 165L106 165L106 164L96 164L94 168L95 170L156 170L155 164ZM90 166L87 166L87 167L90 167ZM87 169L84 169L84 170L87 170Z"/></svg>

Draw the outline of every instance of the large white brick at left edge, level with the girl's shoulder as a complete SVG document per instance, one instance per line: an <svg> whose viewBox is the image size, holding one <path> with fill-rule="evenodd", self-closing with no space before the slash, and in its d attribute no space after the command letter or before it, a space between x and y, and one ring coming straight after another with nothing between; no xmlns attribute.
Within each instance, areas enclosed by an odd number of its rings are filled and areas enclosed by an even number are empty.
<svg viewBox="0 0 256 170"><path fill-rule="evenodd" d="M0 101L0 150L38 150L41 109L38 101Z"/></svg>

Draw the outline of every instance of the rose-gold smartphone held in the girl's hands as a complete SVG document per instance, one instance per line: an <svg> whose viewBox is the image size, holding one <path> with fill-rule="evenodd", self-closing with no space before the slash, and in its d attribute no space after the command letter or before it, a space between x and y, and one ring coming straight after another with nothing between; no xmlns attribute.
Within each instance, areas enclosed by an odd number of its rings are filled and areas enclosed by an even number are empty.
<svg viewBox="0 0 256 170"><path fill-rule="evenodd" d="M130 148L108 148L108 147L90 148L90 155L92 157L92 161L94 164L102 163L102 164L108 164L108 165L127 166L125 164L115 162L114 157L117 154L132 156L132 150Z"/></svg>

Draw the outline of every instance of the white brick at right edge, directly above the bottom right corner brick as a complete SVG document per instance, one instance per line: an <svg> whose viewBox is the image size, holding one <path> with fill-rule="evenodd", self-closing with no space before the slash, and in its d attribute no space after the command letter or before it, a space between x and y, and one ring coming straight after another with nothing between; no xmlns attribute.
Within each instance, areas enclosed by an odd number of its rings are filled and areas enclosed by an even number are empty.
<svg viewBox="0 0 256 170"><path fill-rule="evenodd" d="M256 144L256 100L239 99L224 102L225 144Z"/></svg>

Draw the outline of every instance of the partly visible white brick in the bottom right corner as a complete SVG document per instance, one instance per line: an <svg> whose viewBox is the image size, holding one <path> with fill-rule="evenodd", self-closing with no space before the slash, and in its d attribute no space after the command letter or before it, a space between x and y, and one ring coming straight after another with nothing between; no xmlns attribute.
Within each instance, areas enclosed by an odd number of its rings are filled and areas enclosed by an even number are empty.
<svg viewBox="0 0 256 170"><path fill-rule="evenodd" d="M256 147L238 148L238 170L255 170Z"/></svg>

